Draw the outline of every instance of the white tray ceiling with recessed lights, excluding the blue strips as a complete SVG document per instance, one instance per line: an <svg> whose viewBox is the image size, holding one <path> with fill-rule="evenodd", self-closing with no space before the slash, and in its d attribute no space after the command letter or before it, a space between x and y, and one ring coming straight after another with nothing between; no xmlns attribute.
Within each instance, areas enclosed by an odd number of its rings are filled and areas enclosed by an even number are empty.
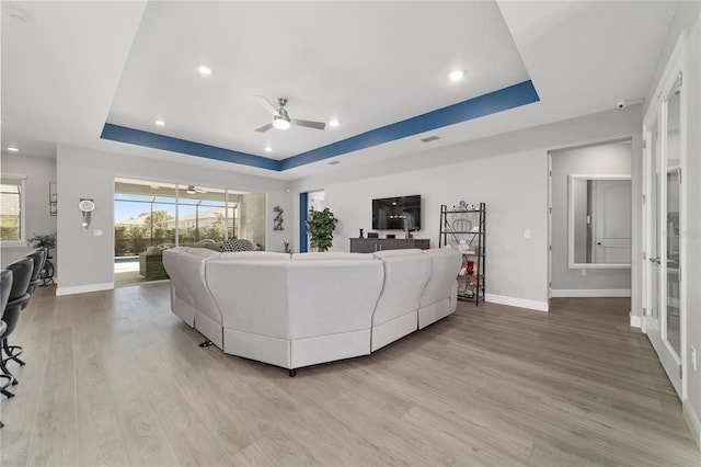
<svg viewBox="0 0 701 467"><path fill-rule="evenodd" d="M591 114L644 96L676 7L3 1L2 150L54 157L69 144L288 180L343 170L428 146L415 135L276 172L100 135L111 123L279 160L529 79L540 102L439 128L430 145ZM450 82L452 69L466 79ZM256 133L272 121L258 94L341 126Z"/></svg>

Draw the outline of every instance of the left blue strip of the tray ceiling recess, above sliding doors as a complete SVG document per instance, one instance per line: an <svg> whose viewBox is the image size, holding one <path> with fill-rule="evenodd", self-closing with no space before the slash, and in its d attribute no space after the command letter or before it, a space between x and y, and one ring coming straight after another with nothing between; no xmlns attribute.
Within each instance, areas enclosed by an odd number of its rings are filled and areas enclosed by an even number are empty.
<svg viewBox="0 0 701 467"><path fill-rule="evenodd" d="M246 152L239 152L231 149L223 149L216 146L203 145L200 143L188 141L186 139L158 135L156 133L128 128L126 126L113 125L111 123L105 124L102 129L101 138L146 146L148 148L163 149L165 151L222 160L225 162L241 163L261 169L280 170L280 162L275 159L268 159Z"/></svg>

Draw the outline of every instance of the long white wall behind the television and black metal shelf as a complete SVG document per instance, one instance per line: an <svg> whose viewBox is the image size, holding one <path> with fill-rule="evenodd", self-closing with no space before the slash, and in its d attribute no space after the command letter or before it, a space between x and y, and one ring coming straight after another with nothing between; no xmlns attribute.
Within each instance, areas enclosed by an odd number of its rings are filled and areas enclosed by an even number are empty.
<svg viewBox="0 0 701 467"><path fill-rule="evenodd" d="M547 310L548 151L624 137L640 141L640 106L604 112L405 155L371 169L300 179L290 189L292 196L325 191L325 205L340 219L336 251L348 251L348 238L357 237L359 228L370 230L376 197L421 194L423 229L415 237L430 239L432 246L438 241L441 204L485 202L487 299ZM530 239L524 238L525 230L531 231Z"/></svg>

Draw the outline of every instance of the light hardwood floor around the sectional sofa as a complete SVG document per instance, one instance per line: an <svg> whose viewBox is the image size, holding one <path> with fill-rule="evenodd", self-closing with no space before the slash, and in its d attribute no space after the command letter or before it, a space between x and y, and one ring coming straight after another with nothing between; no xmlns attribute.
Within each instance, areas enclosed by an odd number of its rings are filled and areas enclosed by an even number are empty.
<svg viewBox="0 0 701 467"><path fill-rule="evenodd" d="M700 466L627 299L461 303L379 352L300 369L200 349L168 283L55 297L11 341L2 466Z"/></svg>

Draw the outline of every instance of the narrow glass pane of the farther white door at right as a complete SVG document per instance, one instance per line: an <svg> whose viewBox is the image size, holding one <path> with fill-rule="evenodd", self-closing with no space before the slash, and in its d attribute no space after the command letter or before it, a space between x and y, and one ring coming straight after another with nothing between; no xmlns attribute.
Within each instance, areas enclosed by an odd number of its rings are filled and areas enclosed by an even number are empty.
<svg viewBox="0 0 701 467"><path fill-rule="evenodd" d="M650 308L654 321L659 320L659 135L658 122L651 128L650 138Z"/></svg>

